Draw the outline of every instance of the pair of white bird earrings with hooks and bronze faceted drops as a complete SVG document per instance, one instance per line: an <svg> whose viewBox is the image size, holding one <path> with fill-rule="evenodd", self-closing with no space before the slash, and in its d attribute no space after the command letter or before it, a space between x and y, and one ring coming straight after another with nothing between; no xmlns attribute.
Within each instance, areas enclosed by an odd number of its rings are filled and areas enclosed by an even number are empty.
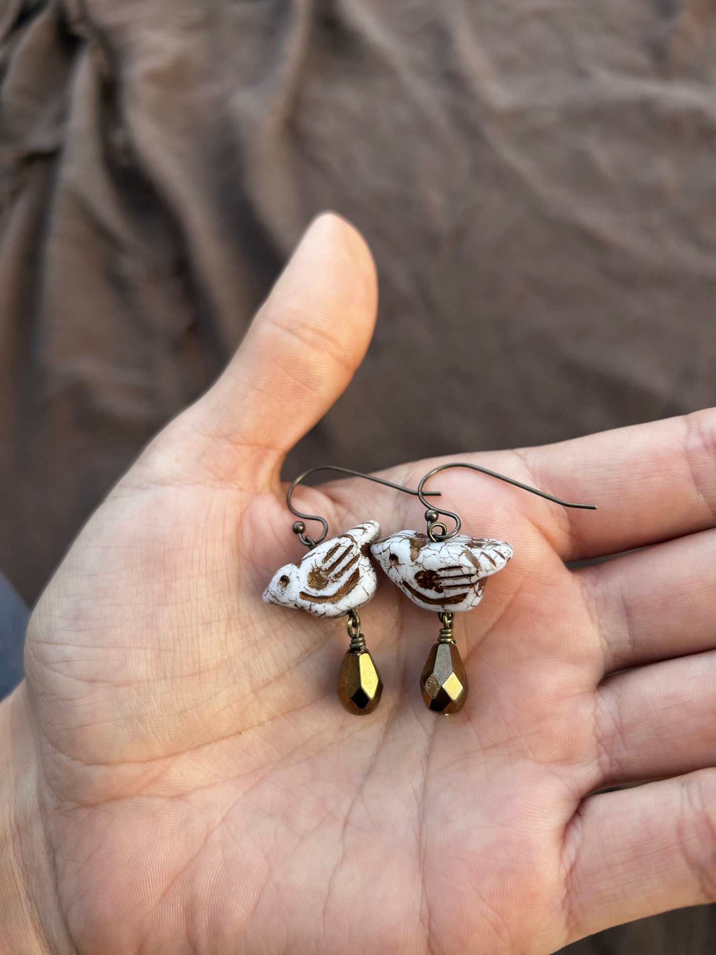
<svg viewBox="0 0 716 955"><path fill-rule="evenodd" d="M420 676L420 690L425 705L432 711L453 713L461 710L467 699L467 674L453 637L454 615L463 610L472 610L479 604L485 581L505 566L513 556L513 548L506 541L459 534L459 517L452 511L433 507L426 500L426 497L440 496L439 491L425 491L426 482L439 471L449 468L470 468L497 477L563 507L596 509L594 504L560 500L512 477L461 461L432 468L421 478L415 490L382 477L332 464L310 468L297 477L288 488L286 504L290 512L300 519L294 522L293 532L309 550L303 560L287 563L276 571L266 587L263 600L269 604L305 610L317 617L347 615L350 644L338 673L338 696L348 712L359 715L372 712L378 706L383 692L383 681L366 648L366 638L361 632L361 621L356 612L359 606L369 602L378 586L371 555L392 583L414 604L437 611L440 632ZM315 514L302 514L291 502L294 490L306 477L324 470L364 477L416 496L427 508L427 533L405 530L378 540L380 525L376 520L366 520L339 537L326 541L326 519ZM451 531L439 520L441 516L454 521ZM323 531L317 540L305 533L305 520L317 520L322 524Z"/></svg>

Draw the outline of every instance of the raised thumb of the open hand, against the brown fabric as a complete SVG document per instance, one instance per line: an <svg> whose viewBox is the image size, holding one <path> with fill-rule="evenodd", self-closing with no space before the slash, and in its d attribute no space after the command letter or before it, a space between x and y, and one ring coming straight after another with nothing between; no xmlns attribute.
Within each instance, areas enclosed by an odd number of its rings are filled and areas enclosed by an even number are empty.
<svg viewBox="0 0 716 955"><path fill-rule="evenodd" d="M182 424L194 425L202 459L221 479L249 464L254 486L345 391L369 346L377 279L368 245L325 213L301 243L221 378Z"/></svg>

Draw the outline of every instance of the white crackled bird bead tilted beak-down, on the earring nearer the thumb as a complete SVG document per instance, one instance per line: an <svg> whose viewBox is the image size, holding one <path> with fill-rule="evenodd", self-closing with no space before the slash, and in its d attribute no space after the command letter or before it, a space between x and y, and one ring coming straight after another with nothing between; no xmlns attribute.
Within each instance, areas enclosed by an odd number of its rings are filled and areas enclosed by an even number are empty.
<svg viewBox="0 0 716 955"><path fill-rule="evenodd" d="M323 541L303 560L277 570L263 600L306 610L316 617L341 617L367 604L378 586L370 544L379 534L378 522L367 520L340 537Z"/></svg>

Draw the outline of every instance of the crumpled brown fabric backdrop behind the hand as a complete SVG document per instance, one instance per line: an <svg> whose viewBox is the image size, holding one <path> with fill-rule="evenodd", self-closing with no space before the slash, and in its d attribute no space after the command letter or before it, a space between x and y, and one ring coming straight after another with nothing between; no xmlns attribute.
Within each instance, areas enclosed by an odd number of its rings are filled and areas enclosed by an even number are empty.
<svg viewBox="0 0 716 955"><path fill-rule="evenodd" d="M287 474L716 404L714 0L0 10L0 568L28 601L324 207L380 321ZM713 950L709 910L650 924L575 950Z"/></svg>

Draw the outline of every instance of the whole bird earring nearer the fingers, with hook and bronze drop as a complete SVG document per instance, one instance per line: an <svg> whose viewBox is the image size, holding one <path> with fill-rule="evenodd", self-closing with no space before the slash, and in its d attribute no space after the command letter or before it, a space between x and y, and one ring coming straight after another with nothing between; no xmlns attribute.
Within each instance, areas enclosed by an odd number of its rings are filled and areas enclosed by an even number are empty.
<svg viewBox="0 0 716 955"><path fill-rule="evenodd" d="M373 557L393 584L397 584L413 604L438 612L440 633L420 676L420 690L428 709L443 713L462 710L468 695L467 674L453 637L454 615L478 605L487 578L501 570L513 556L513 548L506 541L490 541L459 534L459 517L452 511L432 507L425 499L424 488L428 479L449 468L471 468L561 504L562 507L596 510L595 504L575 504L553 498L550 494L477 464L440 464L421 479L417 489L417 497L427 508L427 534L398 531L371 544ZM453 530L448 531L446 525L438 520L441 515L454 521Z"/></svg>

